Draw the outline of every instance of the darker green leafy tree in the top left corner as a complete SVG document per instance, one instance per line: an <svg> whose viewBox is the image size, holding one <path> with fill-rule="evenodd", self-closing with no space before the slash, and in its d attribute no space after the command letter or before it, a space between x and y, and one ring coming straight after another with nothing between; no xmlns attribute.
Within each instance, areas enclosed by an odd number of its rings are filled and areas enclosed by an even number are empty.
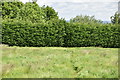
<svg viewBox="0 0 120 80"><path fill-rule="evenodd" d="M16 18L23 5L22 2L2 2L2 18Z"/></svg>

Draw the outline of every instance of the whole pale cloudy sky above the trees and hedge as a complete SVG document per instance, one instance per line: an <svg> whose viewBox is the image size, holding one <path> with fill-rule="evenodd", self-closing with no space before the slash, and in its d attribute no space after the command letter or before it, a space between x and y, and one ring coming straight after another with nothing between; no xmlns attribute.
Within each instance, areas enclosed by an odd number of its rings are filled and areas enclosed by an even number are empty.
<svg viewBox="0 0 120 80"><path fill-rule="evenodd" d="M23 3L32 0L20 0ZM77 15L95 16L102 21L110 21L110 17L118 11L119 0L38 0L40 6L48 5L58 12L60 18L70 20Z"/></svg>

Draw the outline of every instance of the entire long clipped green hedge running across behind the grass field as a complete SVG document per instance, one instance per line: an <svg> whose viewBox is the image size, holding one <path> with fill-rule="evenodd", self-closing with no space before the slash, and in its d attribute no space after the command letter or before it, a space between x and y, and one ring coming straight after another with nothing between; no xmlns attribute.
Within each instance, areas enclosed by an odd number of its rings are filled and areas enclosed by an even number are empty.
<svg viewBox="0 0 120 80"><path fill-rule="evenodd" d="M119 47L119 25L74 24L64 20L46 23L3 21L2 43L10 46Z"/></svg>

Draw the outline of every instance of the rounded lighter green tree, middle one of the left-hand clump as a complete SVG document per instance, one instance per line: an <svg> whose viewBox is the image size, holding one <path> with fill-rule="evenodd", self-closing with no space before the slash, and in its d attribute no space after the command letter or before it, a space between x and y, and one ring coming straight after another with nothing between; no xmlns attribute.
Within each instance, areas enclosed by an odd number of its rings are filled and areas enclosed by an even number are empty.
<svg viewBox="0 0 120 80"><path fill-rule="evenodd" d="M37 3L27 2L20 9L18 19L38 23L45 20L45 13Z"/></svg>

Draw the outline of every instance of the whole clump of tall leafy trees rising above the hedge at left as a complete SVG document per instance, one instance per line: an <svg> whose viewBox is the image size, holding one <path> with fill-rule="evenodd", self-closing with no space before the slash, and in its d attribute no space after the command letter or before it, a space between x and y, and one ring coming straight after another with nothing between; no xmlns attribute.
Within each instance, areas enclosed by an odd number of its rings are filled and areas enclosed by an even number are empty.
<svg viewBox="0 0 120 80"><path fill-rule="evenodd" d="M32 23L45 22L51 19L58 19L58 13L52 7L39 7L36 2L3 2L3 19L18 19L31 21Z"/></svg>

